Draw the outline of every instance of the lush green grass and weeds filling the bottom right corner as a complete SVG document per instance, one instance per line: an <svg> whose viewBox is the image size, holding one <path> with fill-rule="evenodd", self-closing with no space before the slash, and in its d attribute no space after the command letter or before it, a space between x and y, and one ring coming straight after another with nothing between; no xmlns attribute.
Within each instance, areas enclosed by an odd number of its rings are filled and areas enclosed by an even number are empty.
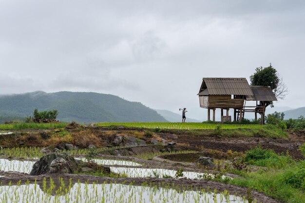
<svg viewBox="0 0 305 203"><path fill-rule="evenodd" d="M230 184L255 189L281 202L305 202L304 160L294 160L288 154L278 155L261 147L249 150L242 158L248 164L267 169L237 171L242 177L230 180Z"/></svg>

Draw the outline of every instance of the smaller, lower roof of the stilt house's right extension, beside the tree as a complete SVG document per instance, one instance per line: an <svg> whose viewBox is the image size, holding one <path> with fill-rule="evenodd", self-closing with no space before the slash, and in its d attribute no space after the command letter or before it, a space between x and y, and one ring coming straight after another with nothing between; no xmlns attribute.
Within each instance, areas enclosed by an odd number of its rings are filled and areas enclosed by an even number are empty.
<svg viewBox="0 0 305 203"><path fill-rule="evenodd" d="M246 96L247 101L277 101L271 87L269 86L250 86L253 96Z"/></svg>

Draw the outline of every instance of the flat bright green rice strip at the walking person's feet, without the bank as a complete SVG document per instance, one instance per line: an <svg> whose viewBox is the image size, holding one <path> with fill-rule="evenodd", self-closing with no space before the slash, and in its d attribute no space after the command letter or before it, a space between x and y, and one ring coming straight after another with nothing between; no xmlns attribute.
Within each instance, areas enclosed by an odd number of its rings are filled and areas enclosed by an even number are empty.
<svg viewBox="0 0 305 203"><path fill-rule="evenodd" d="M180 129L180 130L207 130L215 129L221 126L222 129L239 129L239 128L262 128L258 124L215 124L215 123L173 123L173 122L104 122L96 123L96 126L112 127L125 126L130 128L148 128L148 129Z"/></svg>

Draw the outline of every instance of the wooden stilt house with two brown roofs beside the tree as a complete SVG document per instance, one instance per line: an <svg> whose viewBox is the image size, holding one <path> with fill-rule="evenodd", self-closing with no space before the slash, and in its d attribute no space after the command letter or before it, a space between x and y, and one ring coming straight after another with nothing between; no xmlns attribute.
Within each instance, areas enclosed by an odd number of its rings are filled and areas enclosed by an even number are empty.
<svg viewBox="0 0 305 203"><path fill-rule="evenodd" d="M262 124L265 118L267 101L276 101L270 87L250 86L246 78L203 78L199 93L200 107L213 111L215 121L216 108L221 109L221 121L231 121L229 109L234 109L234 121L244 118L245 112L261 115ZM256 106L245 106L246 101L260 101ZM226 110L226 116L224 116Z"/></svg>

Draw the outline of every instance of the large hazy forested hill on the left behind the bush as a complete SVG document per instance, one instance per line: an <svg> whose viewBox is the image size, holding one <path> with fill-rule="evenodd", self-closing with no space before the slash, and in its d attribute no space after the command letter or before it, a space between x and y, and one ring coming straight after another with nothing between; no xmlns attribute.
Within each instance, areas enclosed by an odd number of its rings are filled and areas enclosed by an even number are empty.
<svg viewBox="0 0 305 203"><path fill-rule="evenodd" d="M36 91L0 96L0 117L32 116L35 108L38 111L57 109L57 118L68 122L167 121L140 102L126 101L110 94Z"/></svg>

